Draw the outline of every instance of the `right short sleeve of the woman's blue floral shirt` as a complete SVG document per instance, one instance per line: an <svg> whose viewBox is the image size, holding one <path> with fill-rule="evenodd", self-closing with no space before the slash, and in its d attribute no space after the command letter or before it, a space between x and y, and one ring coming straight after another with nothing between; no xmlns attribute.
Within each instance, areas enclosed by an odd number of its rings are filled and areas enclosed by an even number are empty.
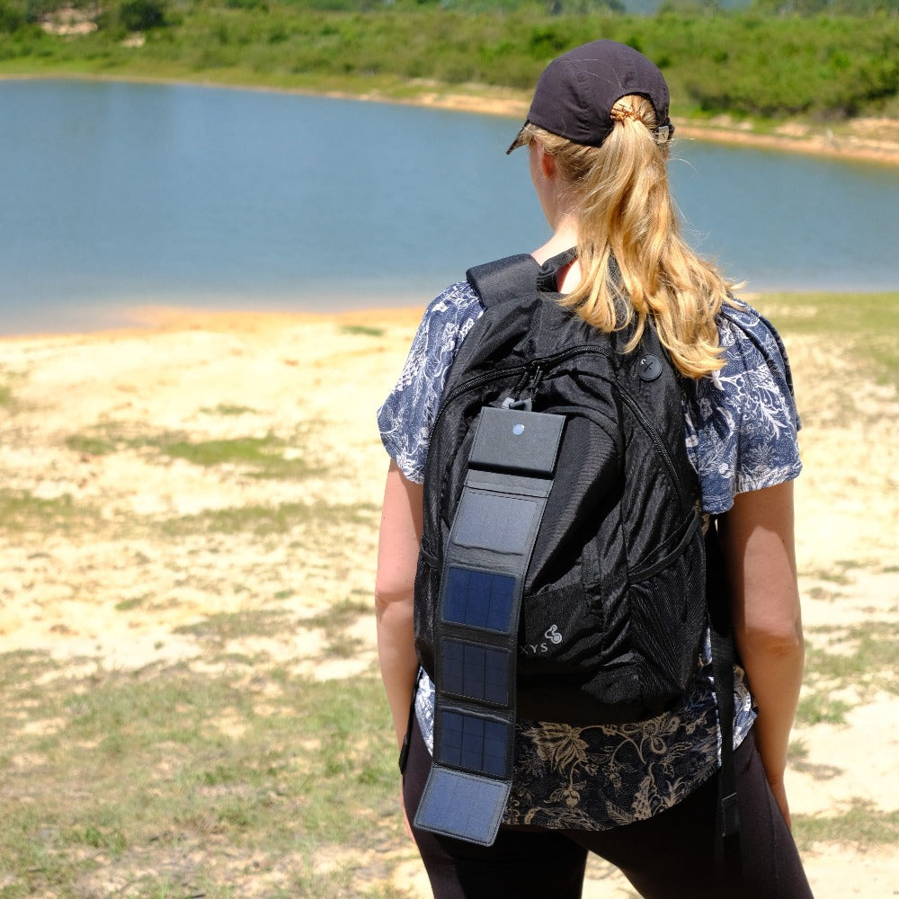
<svg viewBox="0 0 899 899"><path fill-rule="evenodd" d="M795 478L802 469L793 378L780 335L743 302L718 318L725 365L684 387L687 450L705 512L734 495Z"/></svg>

